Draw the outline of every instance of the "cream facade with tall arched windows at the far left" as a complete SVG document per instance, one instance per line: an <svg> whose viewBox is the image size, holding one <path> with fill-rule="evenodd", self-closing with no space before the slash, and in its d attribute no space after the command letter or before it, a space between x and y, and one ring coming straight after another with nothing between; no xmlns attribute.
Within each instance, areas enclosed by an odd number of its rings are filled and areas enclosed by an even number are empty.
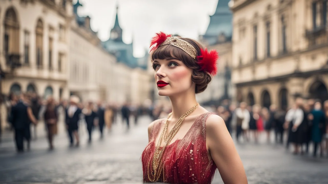
<svg viewBox="0 0 328 184"><path fill-rule="evenodd" d="M1 92L67 98L71 0L1 0Z"/></svg>

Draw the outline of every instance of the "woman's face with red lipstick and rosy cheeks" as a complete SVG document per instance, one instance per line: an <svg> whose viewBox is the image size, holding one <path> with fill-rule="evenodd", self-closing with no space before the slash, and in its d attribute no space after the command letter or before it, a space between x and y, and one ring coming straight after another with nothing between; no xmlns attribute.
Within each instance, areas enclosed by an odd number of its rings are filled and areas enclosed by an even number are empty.
<svg viewBox="0 0 328 184"><path fill-rule="evenodd" d="M158 89L158 95L171 96L183 93L193 87L192 82L193 69L187 67L182 61L176 59L155 59L155 82Z"/></svg>

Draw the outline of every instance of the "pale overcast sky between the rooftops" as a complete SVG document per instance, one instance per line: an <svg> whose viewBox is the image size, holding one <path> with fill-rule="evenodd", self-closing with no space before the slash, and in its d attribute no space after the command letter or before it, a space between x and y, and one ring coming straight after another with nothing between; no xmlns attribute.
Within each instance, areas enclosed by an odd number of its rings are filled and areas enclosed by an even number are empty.
<svg viewBox="0 0 328 184"><path fill-rule="evenodd" d="M91 28L102 41L114 26L116 5L123 42L133 39L133 55L142 57L156 32L197 39L204 34L218 0L79 0L79 16L91 17ZM77 0L73 0L75 4Z"/></svg>

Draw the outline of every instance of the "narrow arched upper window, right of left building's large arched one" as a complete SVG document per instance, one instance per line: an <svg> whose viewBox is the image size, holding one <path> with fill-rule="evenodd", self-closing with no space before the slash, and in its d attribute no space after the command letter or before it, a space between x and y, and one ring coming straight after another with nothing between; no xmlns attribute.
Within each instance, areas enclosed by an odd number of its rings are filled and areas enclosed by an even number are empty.
<svg viewBox="0 0 328 184"><path fill-rule="evenodd" d="M39 19L36 26L36 65L42 68L42 53L43 53L43 23Z"/></svg>

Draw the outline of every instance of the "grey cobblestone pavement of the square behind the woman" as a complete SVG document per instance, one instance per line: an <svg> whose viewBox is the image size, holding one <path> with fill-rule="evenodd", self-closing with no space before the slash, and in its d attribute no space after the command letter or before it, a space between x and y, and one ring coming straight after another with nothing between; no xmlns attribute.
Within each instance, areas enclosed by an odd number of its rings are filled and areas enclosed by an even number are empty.
<svg viewBox="0 0 328 184"><path fill-rule="evenodd" d="M31 151L23 154L15 152L12 135L5 134L0 143L0 183L142 183L140 156L148 141L149 123L148 117L141 117L138 125L127 131L119 120L103 140L95 130L91 144L87 143L86 127L81 126L78 148L68 147L61 124L51 152L47 151L42 123L38 125L38 139L31 142ZM264 140L236 147L249 183L328 183L327 158L293 156L284 147ZM213 183L223 183L218 172Z"/></svg>

